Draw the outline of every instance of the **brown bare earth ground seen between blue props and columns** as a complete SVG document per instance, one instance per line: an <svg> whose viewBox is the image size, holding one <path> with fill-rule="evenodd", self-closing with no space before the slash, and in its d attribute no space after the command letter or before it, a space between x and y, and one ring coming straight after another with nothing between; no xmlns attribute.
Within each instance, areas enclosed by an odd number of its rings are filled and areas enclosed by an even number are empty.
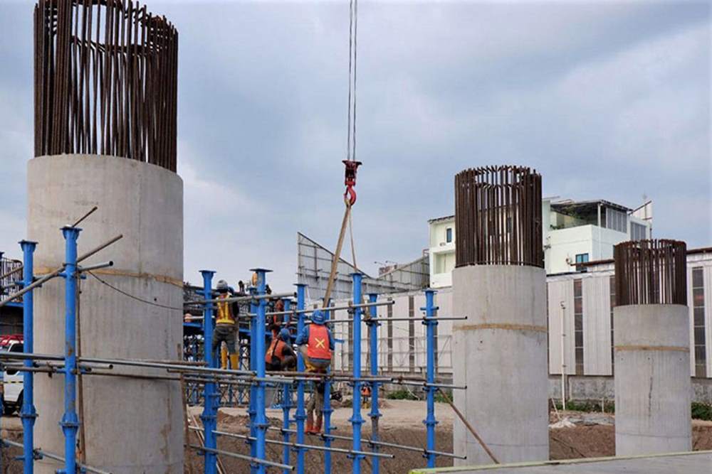
<svg viewBox="0 0 712 474"><path fill-rule="evenodd" d="M197 424L200 423L199 415L202 409L194 406L190 409L190 414ZM422 423L425 417L424 402L409 400L386 400L381 408L382 418L379 421L379 433L382 441L404 444L409 446L425 446L425 426ZM268 410L268 417L271 426L281 427L282 411ZM333 426L336 426L335 434L350 436L351 424L348 421L352 415L350 407L336 408L333 416ZM368 409L362 411L365 419L363 425L364 438L370 436L371 421L368 418ZM436 431L436 449L439 451L452 450L452 424L454 413L447 404L436 404L436 416L439 421ZM560 422L560 419L566 421ZM582 414L575 411L551 413L550 421L562 428L550 429L550 458L551 459L573 459L573 458L595 458L615 455L615 435L614 416L611 414ZM557 426L555 425L555 426ZM248 423L246 409L244 408L222 408L219 412L218 428L221 431L231 433L248 433ZM476 428L476 427L475 427ZM59 429L59 426L58 428ZM22 426L20 419L14 416L2 417L2 436L9 436L10 439L21 442ZM196 433L189 435L189 442L199 444ZM280 439L278 431L270 431L268 438ZM292 437L292 441L293 441ZM320 439L307 436L306 442L310 444L322 445ZM218 438L219 448L225 451L237 453L249 453L246 442L239 439L221 436ZM350 448L350 441L334 441L333 445L338 448ZM364 443L367 450L367 444ZM38 446L39 447L39 446ZM693 449L703 451L712 449L712 421L693 421ZM425 460L419 453L410 451L394 450L383 448L382 452L392 453L396 457L393 459L381 460L382 473L407 473L410 469L422 468ZM21 463L14 460L14 456L19 456L21 450L17 448L4 448L1 463L1 473L16 474L21 473ZM282 460L282 446L268 444L267 458L270 460ZM292 456L294 462L295 456ZM323 452L311 451L306 454L307 473L321 474L324 472ZM221 463L224 465L225 473L246 473L249 472L246 461L221 456ZM363 472L371 472L371 460L366 458L362 461ZM449 458L439 458L438 466L452 465ZM203 472L203 461L194 450L186 453L186 473L199 474ZM347 473L351 471L351 460L344 454L332 454L332 471L334 473ZM277 469L270 469L269 472L278 472Z"/></svg>

